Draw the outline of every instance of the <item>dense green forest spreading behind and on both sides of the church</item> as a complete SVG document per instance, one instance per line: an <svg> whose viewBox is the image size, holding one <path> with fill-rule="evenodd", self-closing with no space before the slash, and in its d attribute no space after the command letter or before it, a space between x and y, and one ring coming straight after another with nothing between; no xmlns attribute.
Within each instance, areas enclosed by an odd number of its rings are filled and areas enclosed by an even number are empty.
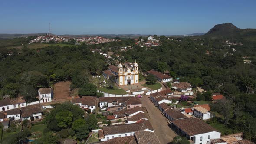
<svg viewBox="0 0 256 144"><path fill-rule="evenodd" d="M226 39L199 37L166 40L157 37L161 46L135 46L135 39L121 42L79 46L48 46L41 49L0 49L0 95L23 95L34 101L38 88L59 81L71 80L71 88L81 88L89 82L86 75L101 75L108 67L102 52L123 55L128 62L137 60L141 72L156 69L170 71L174 78L187 81L210 92L220 92L226 103L213 103L212 110L223 115L215 119L233 132L244 132L247 139L256 140L256 47L248 41L242 46L224 47ZM236 41L236 40L234 40ZM121 51L121 46L131 46ZM233 50L235 49L235 51ZM252 64L244 64L242 55L250 56ZM117 57L112 56L111 63ZM225 109L225 111L223 111ZM209 121L210 122L210 121ZM232 132L230 132L232 133Z"/></svg>

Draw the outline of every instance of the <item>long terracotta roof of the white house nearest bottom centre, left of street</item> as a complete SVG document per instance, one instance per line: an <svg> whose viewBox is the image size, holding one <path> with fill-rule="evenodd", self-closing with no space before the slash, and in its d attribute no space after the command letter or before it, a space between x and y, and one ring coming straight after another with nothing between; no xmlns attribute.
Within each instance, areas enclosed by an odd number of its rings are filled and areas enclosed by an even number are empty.
<svg viewBox="0 0 256 144"><path fill-rule="evenodd" d="M146 129L144 123L140 124L121 124L103 127L104 136L112 134L123 134L128 132L135 132L141 129Z"/></svg>

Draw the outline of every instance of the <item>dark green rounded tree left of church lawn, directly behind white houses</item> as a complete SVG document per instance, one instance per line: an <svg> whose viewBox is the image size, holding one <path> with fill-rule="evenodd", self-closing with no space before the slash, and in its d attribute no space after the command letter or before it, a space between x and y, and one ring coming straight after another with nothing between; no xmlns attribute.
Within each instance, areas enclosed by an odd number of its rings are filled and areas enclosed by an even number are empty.
<svg viewBox="0 0 256 144"><path fill-rule="evenodd" d="M86 83L78 91L79 96L96 96L97 88L92 83Z"/></svg>

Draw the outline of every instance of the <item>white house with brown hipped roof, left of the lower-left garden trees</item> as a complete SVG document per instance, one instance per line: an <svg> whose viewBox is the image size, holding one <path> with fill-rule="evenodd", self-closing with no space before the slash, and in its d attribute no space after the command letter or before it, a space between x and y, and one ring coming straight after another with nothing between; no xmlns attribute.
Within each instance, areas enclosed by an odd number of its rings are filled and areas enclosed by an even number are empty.
<svg viewBox="0 0 256 144"><path fill-rule="evenodd" d="M21 108L22 121L25 119L34 121L43 118L43 108L40 105L29 105Z"/></svg>

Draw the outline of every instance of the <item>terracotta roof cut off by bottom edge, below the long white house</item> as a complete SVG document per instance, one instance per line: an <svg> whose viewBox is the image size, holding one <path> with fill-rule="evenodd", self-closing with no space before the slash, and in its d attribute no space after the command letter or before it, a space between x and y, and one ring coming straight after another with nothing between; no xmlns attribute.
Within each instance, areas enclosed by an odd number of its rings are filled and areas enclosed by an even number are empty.
<svg viewBox="0 0 256 144"><path fill-rule="evenodd" d="M134 136L128 137L115 137L102 144L137 144Z"/></svg>

